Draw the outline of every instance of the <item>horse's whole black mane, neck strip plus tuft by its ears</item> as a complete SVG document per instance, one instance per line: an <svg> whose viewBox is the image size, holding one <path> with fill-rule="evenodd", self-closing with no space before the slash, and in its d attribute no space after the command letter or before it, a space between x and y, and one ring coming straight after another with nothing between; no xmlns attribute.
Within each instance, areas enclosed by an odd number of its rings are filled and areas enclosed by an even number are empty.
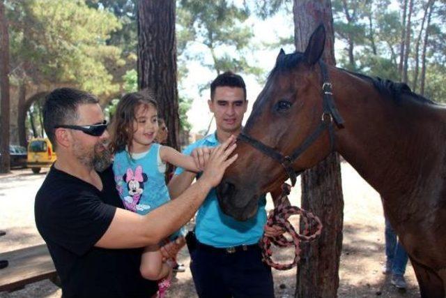
<svg viewBox="0 0 446 298"><path fill-rule="evenodd" d="M293 52L291 54L284 54L282 56L277 57L276 64L274 68L272 68L270 74L268 75L268 80L272 75L274 75L277 72L282 71L290 71L295 66L299 64L299 62L304 57L304 54L301 52ZM387 97L392 98L394 102L400 103L404 96L410 96L410 98L413 98L420 103L429 103L431 105L437 105L436 102L433 100L430 100L428 98L425 98L423 96L420 96L420 94L416 94L413 92L410 87L408 87L407 84L401 83L401 82L393 82L391 80L384 80L380 77L369 77L368 75L363 75L362 73L353 73L352 71L338 68L339 70L344 70L346 73L350 73L351 75L354 75L355 77L360 77L363 80L367 80L368 82L371 82L374 87L380 92L380 94L383 94Z"/></svg>

